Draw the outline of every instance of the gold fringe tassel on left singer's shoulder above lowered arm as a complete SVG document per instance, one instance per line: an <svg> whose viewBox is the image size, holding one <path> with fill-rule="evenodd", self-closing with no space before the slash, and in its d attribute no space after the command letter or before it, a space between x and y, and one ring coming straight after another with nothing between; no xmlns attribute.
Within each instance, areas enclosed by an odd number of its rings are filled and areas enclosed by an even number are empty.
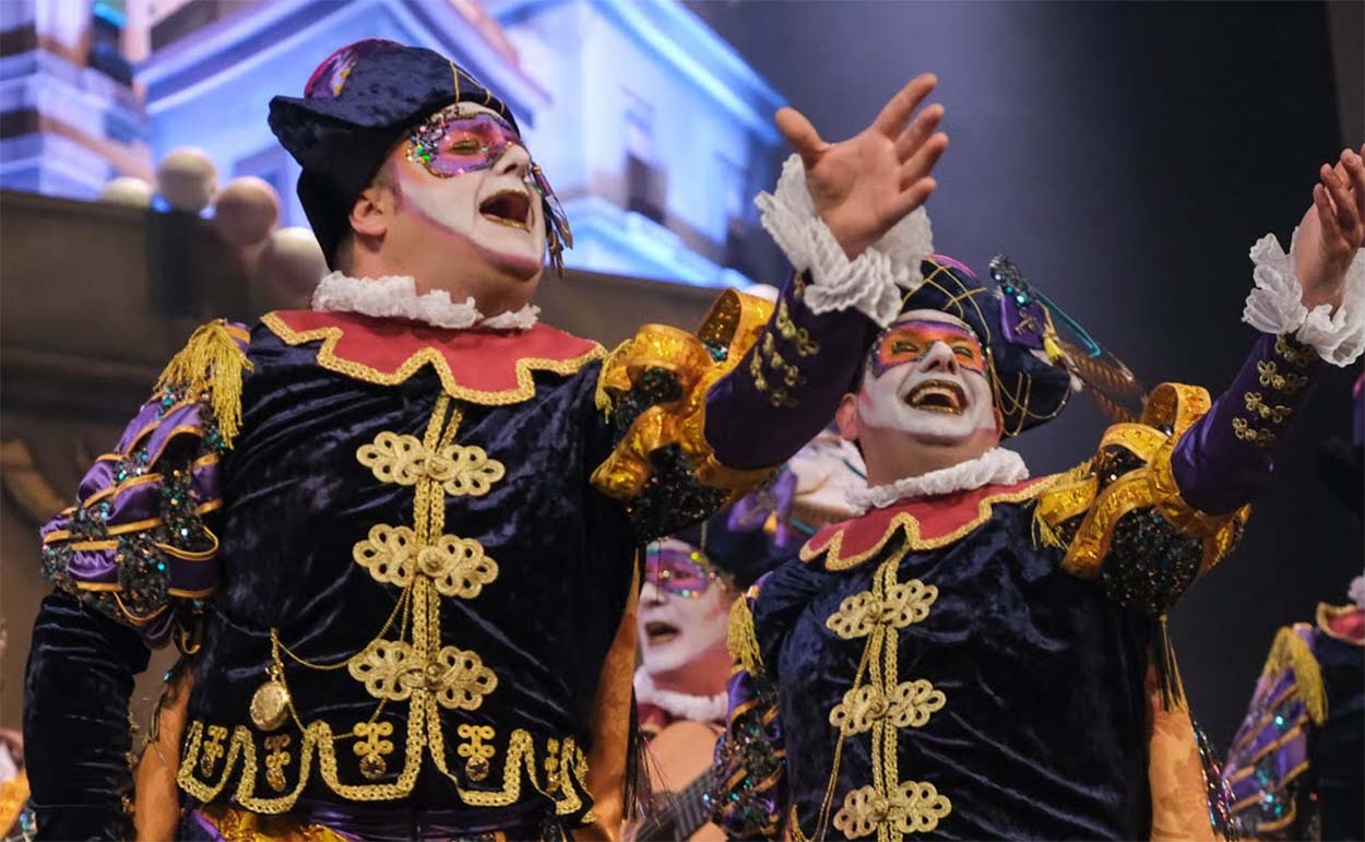
<svg viewBox="0 0 1365 842"><path fill-rule="evenodd" d="M183 389L187 398L209 393L213 420L224 446L242 430L242 373L251 370L251 360L232 338L224 319L214 319L190 336L157 379L156 392Z"/></svg>

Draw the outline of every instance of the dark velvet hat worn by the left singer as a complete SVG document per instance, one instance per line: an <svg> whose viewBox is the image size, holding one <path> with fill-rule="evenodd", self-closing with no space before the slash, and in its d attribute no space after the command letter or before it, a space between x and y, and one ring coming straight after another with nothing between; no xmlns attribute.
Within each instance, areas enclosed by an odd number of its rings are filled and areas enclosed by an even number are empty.
<svg viewBox="0 0 1365 842"><path fill-rule="evenodd" d="M384 160L412 126L452 102L483 105L516 127L506 104L445 56L382 38L328 56L302 98L270 100L270 131L303 166L299 201L329 265L355 198Z"/></svg>

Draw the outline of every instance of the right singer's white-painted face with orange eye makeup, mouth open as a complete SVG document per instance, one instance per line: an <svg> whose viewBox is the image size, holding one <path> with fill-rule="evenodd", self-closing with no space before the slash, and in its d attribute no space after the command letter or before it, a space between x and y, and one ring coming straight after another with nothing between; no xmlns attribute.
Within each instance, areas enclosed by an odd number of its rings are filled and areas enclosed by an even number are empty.
<svg viewBox="0 0 1365 842"><path fill-rule="evenodd" d="M872 353L857 396L860 426L935 445L995 434L980 343L961 319L938 310L905 313Z"/></svg>

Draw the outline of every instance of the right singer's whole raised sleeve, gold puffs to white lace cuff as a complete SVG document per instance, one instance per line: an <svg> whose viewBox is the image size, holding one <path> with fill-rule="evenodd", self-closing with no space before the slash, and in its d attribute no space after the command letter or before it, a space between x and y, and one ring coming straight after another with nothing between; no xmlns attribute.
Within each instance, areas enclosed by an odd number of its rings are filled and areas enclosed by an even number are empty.
<svg viewBox="0 0 1365 842"><path fill-rule="evenodd" d="M1244 319L1263 333L1233 385L1215 401L1197 386L1158 386L1141 423L1110 427L1096 457L1039 501L1039 536L1066 550L1063 568L1152 615L1237 542L1314 374L1365 347L1361 254L1335 311L1302 306L1293 254L1272 236L1250 257L1256 288Z"/></svg>

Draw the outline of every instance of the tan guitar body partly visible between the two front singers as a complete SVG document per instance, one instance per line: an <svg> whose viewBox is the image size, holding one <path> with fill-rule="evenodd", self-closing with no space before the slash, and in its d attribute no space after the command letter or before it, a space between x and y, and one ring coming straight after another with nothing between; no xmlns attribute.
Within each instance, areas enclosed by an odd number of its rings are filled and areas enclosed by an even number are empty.
<svg viewBox="0 0 1365 842"><path fill-rule="evenodd" d="M659 835L658 826L663 817L644 816L643 824L635 828L635 834L628 834L628 838L642 841L685 838L698 842L725 839L725 832L710 822L688 837L673 835L676 831L667 830L676 827L676 823L693 823L692 816L706 815L706 808L700 802L704 787L696 786L696 782L711 771L711 755L715 752L719 736L718 725L678 719L650 740L652 759L650 783L655 793L655 812L663 811L672 820L665 822L665 835Z"/></svg>

